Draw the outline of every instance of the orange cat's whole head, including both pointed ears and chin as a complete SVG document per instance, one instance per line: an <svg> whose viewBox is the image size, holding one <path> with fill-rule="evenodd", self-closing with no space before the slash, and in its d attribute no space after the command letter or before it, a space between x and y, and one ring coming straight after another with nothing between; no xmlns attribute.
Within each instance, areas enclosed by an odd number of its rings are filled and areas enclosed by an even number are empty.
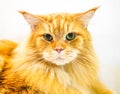
<svg viewBox="0 0 120 94"><path fill-rule="evenodd" d="M89 46L89 20L97 8L78 14L32 15L21 12L31 26L29 46L44 60L64 65L75 60Z"/></svg>

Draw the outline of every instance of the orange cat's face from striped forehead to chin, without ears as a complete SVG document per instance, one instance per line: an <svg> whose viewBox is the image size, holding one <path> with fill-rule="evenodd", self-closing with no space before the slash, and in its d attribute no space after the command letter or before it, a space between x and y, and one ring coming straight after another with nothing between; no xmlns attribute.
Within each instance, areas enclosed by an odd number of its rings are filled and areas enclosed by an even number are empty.
<svg viewBox="0 0 120 94"><path fill-rule="evenodd" d="M77 57L78 47L82 47L83 38L74 24L72 21L70 23L63 18L56 18L45 24L42 32L41 29L38 30L36 46L43 47L41 50L45 60L56 65L63 65Z"/></svg>

